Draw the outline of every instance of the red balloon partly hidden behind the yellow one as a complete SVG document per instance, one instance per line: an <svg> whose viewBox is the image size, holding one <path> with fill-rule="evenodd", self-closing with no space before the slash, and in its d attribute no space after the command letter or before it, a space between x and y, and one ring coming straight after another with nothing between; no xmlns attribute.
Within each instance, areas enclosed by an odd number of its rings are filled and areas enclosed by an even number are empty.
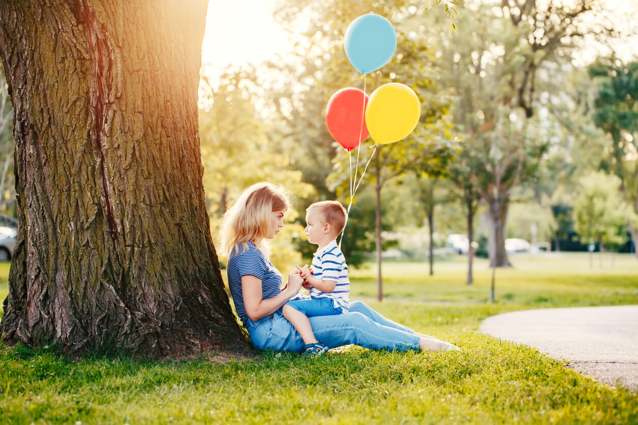
<svg viewBox="0 0 638 425"><path fill-rule="evenodd" d="M369 97L362 90L348 87L330 97L325 107L325 124L341 146L350 151L366 140L364 113Z"/></svg>

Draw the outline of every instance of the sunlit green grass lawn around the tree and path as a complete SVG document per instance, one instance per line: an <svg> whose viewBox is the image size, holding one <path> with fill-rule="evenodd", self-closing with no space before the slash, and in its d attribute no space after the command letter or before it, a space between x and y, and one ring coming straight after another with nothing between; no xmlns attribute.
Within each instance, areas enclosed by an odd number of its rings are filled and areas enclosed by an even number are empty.
<svg viewBox="0 0 638 425"><path fill-rule="evenodd" d="M638 423L638 395L565 368L535 349L476 333L490 315L526 308L638 304L635 257L587 254L512 256L497 270L464 257L435 264L384 263L351 270L352 299L461 352L417 354L350 347L318 359L263 352L227 364L65 361L48 349L0 346L0 418L7 423ZM0 264L0 298L8 266Z"/></svg>

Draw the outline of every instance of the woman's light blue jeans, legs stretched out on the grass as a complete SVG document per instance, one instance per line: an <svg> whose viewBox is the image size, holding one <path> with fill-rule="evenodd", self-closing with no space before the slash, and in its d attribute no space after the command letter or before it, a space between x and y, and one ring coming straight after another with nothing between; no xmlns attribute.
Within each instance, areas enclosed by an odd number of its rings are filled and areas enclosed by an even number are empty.
<svg viewBox="0 0 638 425"><path fill-rule="evenodd" d="M329 348L355 344L373 350L419 350L419 336L412 329L386 319L360 301L350 303L350 312L309 317L313 333ZM281 308L272 315L246 321L250 340L258 349L301 352L304 340L283 317Z"/></svg>

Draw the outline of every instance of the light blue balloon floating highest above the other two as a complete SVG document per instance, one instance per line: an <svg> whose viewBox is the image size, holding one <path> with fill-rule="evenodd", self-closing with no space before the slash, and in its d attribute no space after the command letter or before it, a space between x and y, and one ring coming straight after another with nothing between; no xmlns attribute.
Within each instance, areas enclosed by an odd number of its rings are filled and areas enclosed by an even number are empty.
<svg viewBox="0 0 638 425"><path fill-rule="evenodd" d="M348 61L362 74L387 64L397 47L397 33L390 21L368 13L352 21L343 39Z"/></svg>

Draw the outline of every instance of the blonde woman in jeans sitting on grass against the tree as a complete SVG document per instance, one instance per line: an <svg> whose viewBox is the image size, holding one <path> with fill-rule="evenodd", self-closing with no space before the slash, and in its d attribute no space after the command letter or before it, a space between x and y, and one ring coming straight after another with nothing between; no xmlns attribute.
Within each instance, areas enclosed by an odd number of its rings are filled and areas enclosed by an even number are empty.
<svg viewBox="0 0 638 425"><path fill-rule="evenodd" d="M258 349L301 352L304 342L281 313L281 307L297 296L303 279L291 271L282 287L282 276L269 261L267 239L283 227L290 201L283 189L258 183L244 191L224 215L221 248L228 256L228 287L239 319ZM316 338L327 347L355 344L369 349L457 350L432 336L416 333L364 303L353 301L350 312L309 318Z"/></svg>

